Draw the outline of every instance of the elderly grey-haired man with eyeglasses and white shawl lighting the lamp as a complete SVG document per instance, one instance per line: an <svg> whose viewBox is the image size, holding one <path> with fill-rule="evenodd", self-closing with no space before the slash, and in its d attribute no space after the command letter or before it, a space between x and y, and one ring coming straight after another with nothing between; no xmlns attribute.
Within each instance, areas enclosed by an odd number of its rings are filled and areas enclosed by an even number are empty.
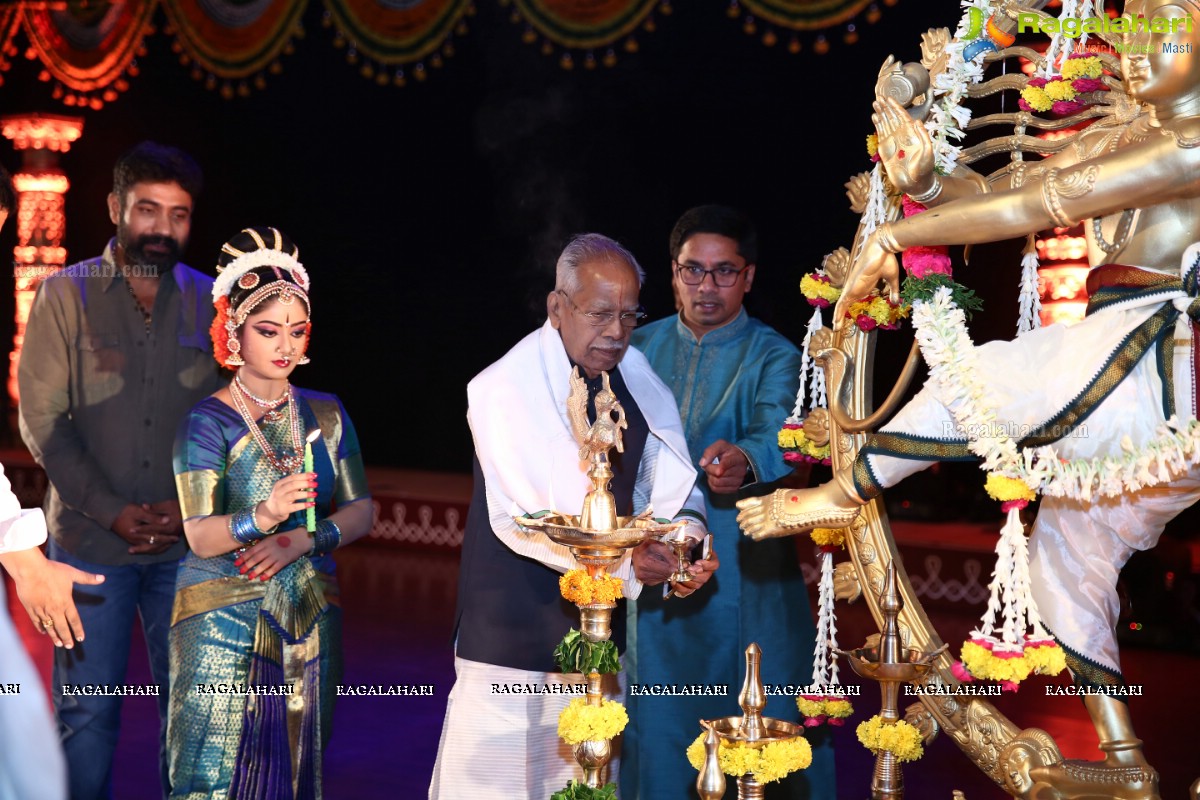
<svg viewBox="0 0 1200 800"><path fill-rule="evenodd" d="M653 507L655 517L688 519L706 533L703 498L671 391L629 337L643 312L643 278L624 247L599 234L576 236L558 259L548 319L467 386L475 440L475 488L463 535L455 620L456 681L446 705L431 800L475 796L548 798L582 772L558 738L558 715L582 697L580 674L558 673L553 650L578 626L558 577L577 567L566 548L512 521L542 510L577 512L590 486L566 416L569 377L588 385L588 413L607 373L625 410L624 451L610 453L617 513ZM671 551L643 545L613 572L626 597L661 584ZM718 567L694 565L694 579L672 590L686 596ZM676 601L683 602L683 601ZM612 640L625 646L624 613ZM614 694L622 690L610 686ZM688 724L682 722L682 724ZM616 759L610 772L616 777Z"/></svg>

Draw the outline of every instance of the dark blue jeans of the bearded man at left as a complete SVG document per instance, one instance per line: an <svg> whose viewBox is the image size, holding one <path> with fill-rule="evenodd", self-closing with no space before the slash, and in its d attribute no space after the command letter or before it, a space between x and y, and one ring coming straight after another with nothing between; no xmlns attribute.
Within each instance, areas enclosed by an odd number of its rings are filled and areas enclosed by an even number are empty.
<svg viewBox="0 0 1200 800"><path fill-rule="evenodd" d="M100 585L77 585L76 607L86 640L72 650L54 651L54 709L67 757L67 778L72 800L107 800L113 794L113 752L121 727L120 696L64 694L62 685L92 687L125 685L130 660L130 637L134 614L142 616L142 631L150 655L150 670L158 685L160 752L158 770L163 796L167 782L167 699L170 668L167 633L175 602L178 561L164 564L106 566L74 558L54 540L49 555L85 572L104 576Z"/></svg>

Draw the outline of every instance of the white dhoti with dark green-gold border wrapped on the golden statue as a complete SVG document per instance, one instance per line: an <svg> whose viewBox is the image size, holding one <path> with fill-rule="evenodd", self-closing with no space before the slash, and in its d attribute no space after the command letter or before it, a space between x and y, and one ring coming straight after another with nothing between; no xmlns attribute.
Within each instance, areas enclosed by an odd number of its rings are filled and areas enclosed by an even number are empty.
<svg viewBox="0 0 1200 800"><path fill-rule="evenodd" d="M1159 359L1157 348L1151 348L1123 378L1112 379L1129 337L1138 336L1142 324L1164 308L1164 300L1182 293L1117 303L1075 325L1051 325L1012 342L978 347L986 386L983 402L996 410L996 423L1016 441L1038 431L1061 435L1052 446L1062 458L1120 455L1127 437L1141 447L1159 434L1168 416L1168 371L1176 415L1194 417L1193 337L1187 315L1165 331L1169 357ZM1072 419L1073 408L1100 395L1103 399L1086 416ZM947 447L958 446L961 452L967 433L936 391L925 386L880 431L877 441L864 447L856 476L865 462L869 477L859 482L875 486L860 488L870 494L895 486L946 457ZM1042 500L1030 542L1033 597L1080 680L1122 680L1115 637L1117 576L1134 551L1154 547L1166 523L1198 498L1200 468L1168 485L1116 498Z"/></svg>

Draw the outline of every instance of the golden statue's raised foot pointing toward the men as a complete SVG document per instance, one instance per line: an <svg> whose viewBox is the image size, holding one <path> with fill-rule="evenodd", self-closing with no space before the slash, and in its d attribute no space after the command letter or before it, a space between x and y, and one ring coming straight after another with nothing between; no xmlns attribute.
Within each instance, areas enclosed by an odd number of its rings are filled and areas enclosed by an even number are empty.
<svg viewBox="0 0 1200 800"><path fill-rule="evenodd" d="M792 536L814 528L847 528L862 501L850 498L836 480L809 489L778 489L738 500L738 525L755 541Z"/></svg>

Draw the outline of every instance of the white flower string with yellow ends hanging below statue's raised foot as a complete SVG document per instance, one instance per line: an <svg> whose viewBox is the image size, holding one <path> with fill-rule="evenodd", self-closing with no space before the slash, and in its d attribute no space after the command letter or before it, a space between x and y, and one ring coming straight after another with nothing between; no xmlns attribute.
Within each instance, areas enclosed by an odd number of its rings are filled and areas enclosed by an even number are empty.
<svg viewBox="0 0 1200 800"><path fill-rule="evenodd" d="M821 582L817 601L817 636L812 650L812 680L810 693L796 698L796 708L804 715L804 726L812 728L823 723L845 724L854 709L841 691L838 678L838 660L833 651L838 648L838 621L833 603L833 554L846 545L846 529L816 528L810 534L821 549Z"/></svg>

